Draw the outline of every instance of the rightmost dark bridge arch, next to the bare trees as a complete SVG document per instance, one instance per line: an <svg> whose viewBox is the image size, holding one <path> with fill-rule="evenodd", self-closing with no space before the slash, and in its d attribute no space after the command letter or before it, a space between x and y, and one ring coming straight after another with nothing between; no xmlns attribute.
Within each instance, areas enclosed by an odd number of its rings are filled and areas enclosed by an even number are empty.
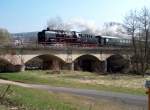
<svg viewBox="0 0 150 110"><path fill-rule="evenodd" d="M125 72L129 67L129 60L123 55L113 54L106 59L107 61L107 72Z"/></svg>

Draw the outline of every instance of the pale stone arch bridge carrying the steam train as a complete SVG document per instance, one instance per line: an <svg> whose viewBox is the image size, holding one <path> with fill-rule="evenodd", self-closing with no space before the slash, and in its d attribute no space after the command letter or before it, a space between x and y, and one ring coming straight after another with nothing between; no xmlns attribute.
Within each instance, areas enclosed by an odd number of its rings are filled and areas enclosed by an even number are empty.
<svg viewBox="0 0 150 110"><path fill-rule="evenodd" d="M31 66L30 62L40 63L42 69L70 69L83 71L107 72L108 59L120 56L130 61L132 51L127 48L11 48L3 50L0 62L3 69L10 71L24 71ZM3 63L4 62L4 63ZM39 62L38 62L39 63ZM39 64L40 64L39 63ZM5 65L4 65L5 64ZM34 66L32 65L32 67ZM2 69L2 70L3 70ZM1 71L2 71L1 70Z"/></svg>

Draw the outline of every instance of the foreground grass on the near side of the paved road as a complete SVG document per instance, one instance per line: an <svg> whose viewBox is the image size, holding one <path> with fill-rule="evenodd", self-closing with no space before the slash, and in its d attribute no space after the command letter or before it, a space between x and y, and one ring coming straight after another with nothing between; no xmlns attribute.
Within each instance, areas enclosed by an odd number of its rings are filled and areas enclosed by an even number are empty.
<svg viewBox="0 0 150 110"><path fill-rule="evenodd" d="M1 85L0 93L6 85ZM11 93L5 96L10 103L9 108L16 110L143 110L143 107L127 105L113 100L94 100L88 97L70 94L46 92L38 89L28 89L19 86L11 86ZM1 107L1 106L0 106ZM6 105L3 109L9 110Z"/></svg>

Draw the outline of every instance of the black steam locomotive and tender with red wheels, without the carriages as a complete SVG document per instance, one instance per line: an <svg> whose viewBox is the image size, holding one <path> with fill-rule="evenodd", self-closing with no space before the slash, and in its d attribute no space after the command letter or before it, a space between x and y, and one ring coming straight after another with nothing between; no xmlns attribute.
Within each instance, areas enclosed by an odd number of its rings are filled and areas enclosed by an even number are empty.
<svg viewBox="0 0 150 110"><path fill-rule="evenodd" d="M90 34L83 34L75 31L46 29L38 32L38 44L46 44L52 46L97 46L98 40L94 35Z"/></svg>

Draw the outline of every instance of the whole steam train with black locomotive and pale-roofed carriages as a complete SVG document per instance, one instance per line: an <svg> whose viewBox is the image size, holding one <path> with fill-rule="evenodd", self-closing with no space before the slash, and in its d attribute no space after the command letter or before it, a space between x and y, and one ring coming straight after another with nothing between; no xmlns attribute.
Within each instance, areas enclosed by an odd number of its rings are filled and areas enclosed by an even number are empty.
<svg viewBox="0 0 150 110"><path fill-rule="evenodd" d="M131 39L113 36L86 34L76 31L50 30L38 32L38 44L50 46L129 46Z"/></svg>

